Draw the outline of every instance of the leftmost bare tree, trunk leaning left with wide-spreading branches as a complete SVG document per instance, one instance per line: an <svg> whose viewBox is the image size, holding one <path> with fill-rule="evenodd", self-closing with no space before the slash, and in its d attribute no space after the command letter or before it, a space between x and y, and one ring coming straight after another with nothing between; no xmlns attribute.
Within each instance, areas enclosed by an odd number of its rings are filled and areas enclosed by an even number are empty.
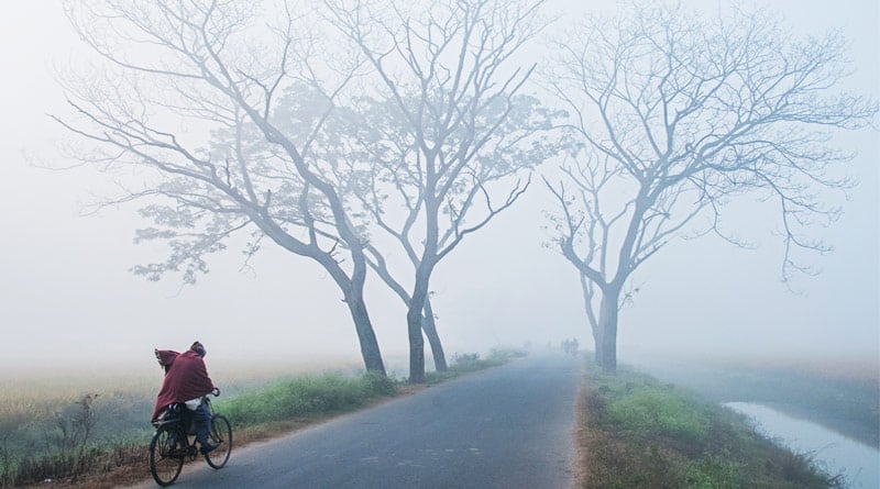
<svg viewBox="0 0 880 489"><path fill-rule="evenodd" d="M295 10L296 9L296 10ZM102 64L68 79L74 113L56 120L85 144L84 163L121 173L121 196L146 200L154 226L139 240L168 242L167 260L135 268L158 279L250 230L316 260L342 291L367 370L385 373L363 287L365 236L339 182L311 151L334 100L356 73L339 65L320 18L239 0L68 2L68 18ZM308 90L305 103L296 99ZM134 178L131 176L134 174ZM341 256L344 253L344 257Z"/></svg>

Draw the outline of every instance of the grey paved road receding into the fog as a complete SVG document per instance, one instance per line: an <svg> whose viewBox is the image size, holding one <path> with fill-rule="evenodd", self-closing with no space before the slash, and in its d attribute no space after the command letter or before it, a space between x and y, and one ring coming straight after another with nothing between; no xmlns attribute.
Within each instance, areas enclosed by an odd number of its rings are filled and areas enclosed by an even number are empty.
<svg viewBox="0 0 880 489"><path fill-rule="evenodd" d="M571 488L579 385L578 360L532 355L188 464L174 487Z"/></svg>

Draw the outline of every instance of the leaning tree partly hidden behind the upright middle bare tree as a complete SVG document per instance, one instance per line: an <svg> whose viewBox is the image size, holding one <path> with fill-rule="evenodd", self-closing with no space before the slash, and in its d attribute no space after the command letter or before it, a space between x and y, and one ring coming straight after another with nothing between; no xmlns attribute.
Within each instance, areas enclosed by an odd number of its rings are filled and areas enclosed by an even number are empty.
<svg viewBox="0 0 880 489"><path fill-rule="evenodd" d="M416 105L416 100L410 100ZM338 113L339 114L339 113ZM503 211L508 203L493 209L490 188L493 184L504 185L505 179L515 178L525 169L539 164L549 153L549 144L539 134L550 129L552 114L541 109L537 99L517 96L504 103L494 103L483 110L484 120L504 121L494 131L493 141L464 168L444 197L444 216L438 220L440 234L438 248L448 253L454 248L453 240L461 241L457 234L470 213L488 222ZM407 307L411 297L404 286L405 277L418 270L421 255L419 246L424 236L426 178L421 171L419 153L413 129L405 114L400 113L395 100L377 101L362 99L351 113L341 115L344 129L340 138L348 142L340 159L350 159L345 169L350 179L358 181L359 189L353 195L360 199L362 208L371 214L371 224L392 237L391 243L371 241L367 246L367 263ZM461 137L471 137L469 131L458 131L447 137L447 144L461 144ZM528 144L524 144L528 142ZM372 171L359 173L364 167L362 160L370 162ZM513 186L514 193L507 196L509 203L518 197L519 186ZM525 190L525 189L522 189ZM485 200L483 200L485 199ZM482 202L481 202L482 201ZM475 231L475 230L474 230ZM393 245L397 249L391 249ZM444 253L444 254L446 254ZM388 258L403 255L411 265L407 270L389 265ZM436 314L429 297L425 299L421 319L422 332L428 340L437 370L446 370L447 362L442 342L436 326Z"/></svg>

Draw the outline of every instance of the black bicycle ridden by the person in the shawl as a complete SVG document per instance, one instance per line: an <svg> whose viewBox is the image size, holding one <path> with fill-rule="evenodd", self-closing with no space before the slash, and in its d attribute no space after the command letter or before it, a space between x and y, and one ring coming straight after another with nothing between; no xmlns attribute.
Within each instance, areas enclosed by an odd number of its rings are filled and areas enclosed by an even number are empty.
<svg viewBox="0 0 880 489"><path fill-rule="evenodd" d="M219 391L212 392L219 396ZM232 453L232 425L229 420L218 414L208 397L202 398L208 403L211 412L211 432L208 440L218 446L205 454L205 460L211 467L219 469L227 465ZM178 402L168 407L168 410L153 422L156 433L150 441L150 474L160 486L169 486L184 467L187 458L195 460L199 455L196 447L196 430L191 416L184 414L186 407Z"/></svg>

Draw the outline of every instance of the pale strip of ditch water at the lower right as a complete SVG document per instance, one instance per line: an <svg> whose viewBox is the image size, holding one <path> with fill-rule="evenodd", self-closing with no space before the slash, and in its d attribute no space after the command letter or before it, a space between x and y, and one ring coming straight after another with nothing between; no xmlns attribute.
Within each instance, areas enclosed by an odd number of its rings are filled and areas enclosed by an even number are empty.
<svg viewBox="0 0 880 489"><path fill-rule="evenodd" d="M880 451L850 440L810 421L751 402L724 405L750 416L767 436L779 440L796 453L813 454L831 474L843 473L853 488L880 488Z"/></svg>

